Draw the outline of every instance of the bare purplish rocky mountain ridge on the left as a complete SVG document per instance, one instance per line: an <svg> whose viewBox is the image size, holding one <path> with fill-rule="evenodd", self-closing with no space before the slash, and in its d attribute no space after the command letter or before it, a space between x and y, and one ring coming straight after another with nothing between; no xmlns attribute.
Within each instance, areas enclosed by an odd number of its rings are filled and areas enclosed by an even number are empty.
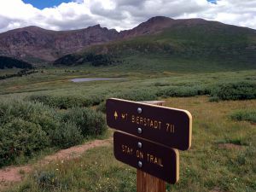
<svg viewBox="0 0 256 192"><path fill-rule="evenodd" d="M38 26L27 26L0 34L0 55L26 61L54 61L61 55L84 49L91 44L102 44L118 37L115 30L99 25L73 31L50 31Z"/></svg>

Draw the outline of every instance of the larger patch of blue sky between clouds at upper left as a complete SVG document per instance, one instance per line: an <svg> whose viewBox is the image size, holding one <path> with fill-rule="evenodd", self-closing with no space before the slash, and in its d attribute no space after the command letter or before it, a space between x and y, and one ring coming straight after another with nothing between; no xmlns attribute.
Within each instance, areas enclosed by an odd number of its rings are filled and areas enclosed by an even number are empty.
<svg viewBox="0 0 256 192"><path fill-rule="evenodd" d="M35 8L44 9L58 6L61 3L72 2L72 0L22 0L24 3L30 3Z"/></svg>

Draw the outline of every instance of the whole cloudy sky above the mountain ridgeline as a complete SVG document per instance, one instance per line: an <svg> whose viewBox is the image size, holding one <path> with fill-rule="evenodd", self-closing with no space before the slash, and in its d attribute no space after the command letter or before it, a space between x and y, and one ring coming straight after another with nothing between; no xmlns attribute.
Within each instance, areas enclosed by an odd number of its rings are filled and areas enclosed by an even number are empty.
<svg viewBox="0 0 256 192"><path fill-rule="evenodd" d="M256 29L256 0L0 0L0 32L24 26L131 29L154 16L202 18Z"/></svg>

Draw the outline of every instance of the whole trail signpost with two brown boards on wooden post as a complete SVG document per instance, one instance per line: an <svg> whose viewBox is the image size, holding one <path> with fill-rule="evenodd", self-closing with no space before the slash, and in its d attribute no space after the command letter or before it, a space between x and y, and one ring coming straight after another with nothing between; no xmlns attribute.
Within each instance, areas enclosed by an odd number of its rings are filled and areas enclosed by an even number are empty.
<svg viewBox="0 0 256 192"><path fill-rule="evenodd" d="M114 155L137 168L137 192L164 192L166 182L179 177L177 149L191 146L189 111L155 106L162 102L131 102L111 98L106 103L107 124L114 132ZM173 149L177 148L177 149Z"/></svg>

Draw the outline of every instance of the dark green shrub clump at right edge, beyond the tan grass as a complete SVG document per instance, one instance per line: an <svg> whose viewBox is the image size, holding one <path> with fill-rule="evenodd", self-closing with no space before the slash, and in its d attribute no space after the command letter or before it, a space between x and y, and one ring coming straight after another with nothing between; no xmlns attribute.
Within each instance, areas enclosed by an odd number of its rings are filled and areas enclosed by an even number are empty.
<svg viewBox="0 0 256 192"><path fill-rule="evenodd" d="M256 84L238 82L216 85L212 89L211 96L220 100L247 100L256 98Z"/></svg>

